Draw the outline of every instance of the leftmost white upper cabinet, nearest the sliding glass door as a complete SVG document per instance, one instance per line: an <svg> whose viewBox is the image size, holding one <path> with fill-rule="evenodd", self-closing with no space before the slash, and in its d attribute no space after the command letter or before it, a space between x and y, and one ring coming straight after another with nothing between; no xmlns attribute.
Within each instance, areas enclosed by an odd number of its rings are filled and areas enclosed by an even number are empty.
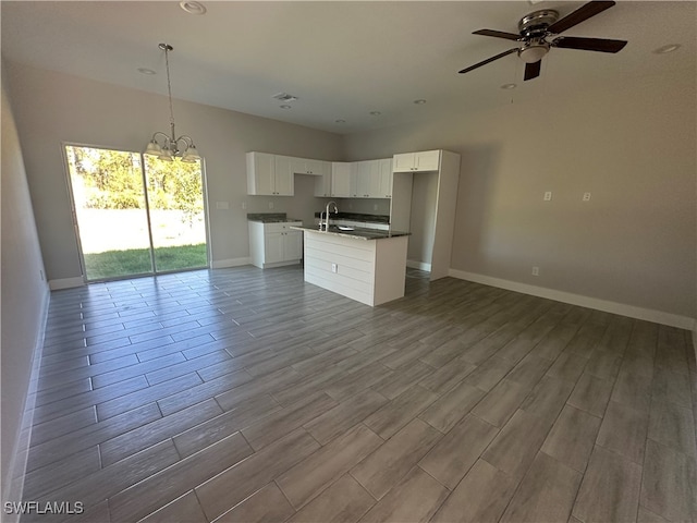
<svg viewBox="0 0 697 523"><path fill-rule="evenodd" d="M290 158L267 153L247 153L247 194L293 196Z"/></svg>

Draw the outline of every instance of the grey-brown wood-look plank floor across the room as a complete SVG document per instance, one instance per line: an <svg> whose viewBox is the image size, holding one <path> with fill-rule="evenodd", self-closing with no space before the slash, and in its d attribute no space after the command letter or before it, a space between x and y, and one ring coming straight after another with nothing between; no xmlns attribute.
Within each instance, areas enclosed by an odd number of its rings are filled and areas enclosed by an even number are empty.
<svg viewBox="0 0 697 523"><path fill-rule="evenodd" d="M36 404L23 522L697 519L689 332L418 271L54 292Z"/></svg>

